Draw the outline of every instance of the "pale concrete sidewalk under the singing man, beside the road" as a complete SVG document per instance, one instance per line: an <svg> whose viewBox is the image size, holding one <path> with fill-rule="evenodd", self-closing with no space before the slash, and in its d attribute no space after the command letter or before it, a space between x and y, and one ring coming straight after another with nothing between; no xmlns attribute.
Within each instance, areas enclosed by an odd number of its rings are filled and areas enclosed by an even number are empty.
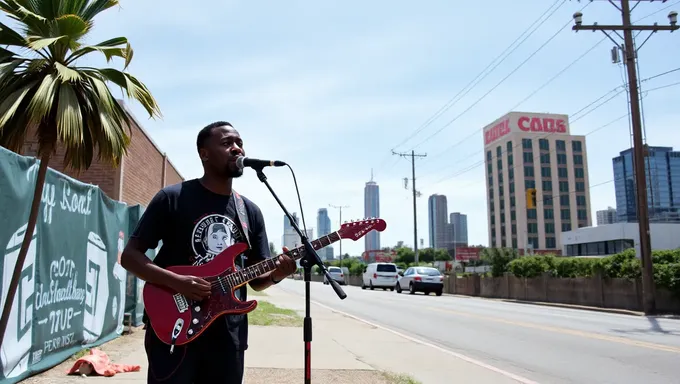
<svg viewBox="0 0 680 384"><path fill-rule="evenodd" d="M267 296L252 296L277 307L290 308L304 315L304 301L276 287ZM514 383L515 381L489 369L355 319L312 304L312 378L317 383L393 384L383 372L408 374L422 384ZM27 384L83 383L100 380L118 384L146 382L144 332L136 329L132 335L118 338L104 346L115 363L138 364L140 372L122 373L113 377L66 376L73 360L51 371L27 379ZM302 327L250 326L249 349L246 352L246 384L287 384L303 381L304 344ZM403 381L408 384L408 381ZM401 384L401 383L400 383Z"/></svg>

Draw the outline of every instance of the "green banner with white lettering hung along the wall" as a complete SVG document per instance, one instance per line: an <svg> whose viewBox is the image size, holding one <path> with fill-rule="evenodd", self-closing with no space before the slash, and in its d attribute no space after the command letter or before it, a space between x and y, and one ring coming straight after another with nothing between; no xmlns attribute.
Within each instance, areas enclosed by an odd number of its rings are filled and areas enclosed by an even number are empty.
<svg viewBox="0 0 680 384"><path fill-rule="evenodd" d="M0 309L24 239L38 166L35 158L0 147L0 246L4 247ZM139 324L141 284L119 260L140 213L139 206L129 208L96 186L48 170L38 222L0 347L0 383L16 383L83 348L118 337L125 312Z"/></svg>

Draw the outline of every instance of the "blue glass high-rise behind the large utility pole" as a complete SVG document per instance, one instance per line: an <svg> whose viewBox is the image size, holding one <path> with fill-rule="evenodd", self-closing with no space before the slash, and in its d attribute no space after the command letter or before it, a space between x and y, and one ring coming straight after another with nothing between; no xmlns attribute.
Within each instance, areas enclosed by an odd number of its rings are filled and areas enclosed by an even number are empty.
<svg viewBox="0 0 680 384"><path fill-rule="evenodd" d="M633 149L613 159L616 213L620 222L637 222ZM680 222L680 151L648 147L645 155L647 206L651 222Z"/></svg>

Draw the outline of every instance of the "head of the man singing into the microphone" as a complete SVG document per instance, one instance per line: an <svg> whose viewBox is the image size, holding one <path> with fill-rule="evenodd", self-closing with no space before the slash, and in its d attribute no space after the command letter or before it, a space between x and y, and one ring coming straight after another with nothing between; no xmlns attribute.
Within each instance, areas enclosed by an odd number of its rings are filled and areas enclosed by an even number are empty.
<svg viewBox="0 0 680 384"><path fill-rule="evenodd" d="M236 158L245 156L243 140L230 123L218 121L201 129L196 147L206 173L224 178L243 175L236 166Z"/></svg>

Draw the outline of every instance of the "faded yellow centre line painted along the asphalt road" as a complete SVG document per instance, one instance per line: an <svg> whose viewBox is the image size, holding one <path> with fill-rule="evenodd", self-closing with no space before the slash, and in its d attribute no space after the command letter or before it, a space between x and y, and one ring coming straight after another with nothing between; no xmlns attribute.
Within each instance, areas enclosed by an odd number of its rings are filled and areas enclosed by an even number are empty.
<svg viewBox="0 0 680 384"><path fill-rule="evenodd" d="M454 310L451 310L451 309L443 309L443 308L436 308L436 307L425 307L425 308L429 309L431 311L446 312L446 313L451 313L451 314L460 315L460 316L466 316L466 317L470 317L470 318L476 318L476 319L481 319L481 320L494 321L494 322L497 322L497 323L514 325L514 326L518 326L518 327L540 329L542 331L562 333L562 334L565 334L565 335L572 335L572 336L580 336L580 337L585 337L587 339L597 339L597 340L603 340L603 341L611 341L611 342L614 342L614 343L625 344L625 345L641 347L641 348L654 349L654 350L657 350L657 351L680 353L680 348L677 348L677 347L672 347L672 346L663 345L663 344L650 343L650 342L646 342L646 341L626 339L625 337L608 336L608 335L602 335L602 334L599 334L599 333L577 331L577 330L574 330L574 329L565 329L565 328L557 328L557 327L551 327L551 326L546 326L546 325L539 325L539 324L534 324L534 323L526 323L526 322L523 322L523 321L499 319L499 318L490 317L490 316L480 316L480 315L474 315L474 314L467 313L467 312L454 311Z"/></svg>

